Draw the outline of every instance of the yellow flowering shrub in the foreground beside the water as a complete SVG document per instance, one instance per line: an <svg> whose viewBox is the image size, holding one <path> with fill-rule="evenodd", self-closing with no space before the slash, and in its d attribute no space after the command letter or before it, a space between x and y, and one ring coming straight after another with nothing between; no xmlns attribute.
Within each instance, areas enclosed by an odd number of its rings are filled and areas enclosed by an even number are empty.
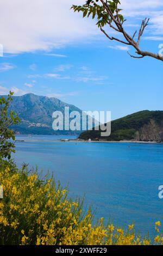
<svg viewBox="0 0 163 256"><path fill-rule="evenodd" d="M83 204L68 197L67 190L43 181L28 170L0 169L0 245L161 245L161 223L155 223L153 241L136 236L134 225L127 231L103 218L92 225L91 211L83 214Z"/></svg>

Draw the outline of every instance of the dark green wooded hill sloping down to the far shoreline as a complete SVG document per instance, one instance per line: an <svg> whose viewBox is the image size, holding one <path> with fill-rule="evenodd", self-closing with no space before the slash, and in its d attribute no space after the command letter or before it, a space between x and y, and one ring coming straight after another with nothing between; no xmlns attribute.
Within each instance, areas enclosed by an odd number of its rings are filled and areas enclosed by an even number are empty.
<svg viewBox="0 0 163 256"><path fill-rule="evenodd" d="M107 141L163 141L163 111L140 111L111 121L111 135L101 137L101 131L86 131L82 139L105 139Z"/></svg>

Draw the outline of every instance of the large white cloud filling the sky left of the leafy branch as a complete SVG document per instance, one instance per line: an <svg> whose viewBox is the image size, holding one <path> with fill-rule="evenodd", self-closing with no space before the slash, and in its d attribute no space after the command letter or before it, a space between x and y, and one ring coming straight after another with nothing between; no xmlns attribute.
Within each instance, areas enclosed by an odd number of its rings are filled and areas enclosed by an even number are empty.
<svg viewBox="0 0 163 256"><path fill-rule="evenodd" d="M92 21L70 10L72 4L81 3L83 0L1 0L0 38L4 52L49 53L54 47L96 35L99 32Z"/></svg>

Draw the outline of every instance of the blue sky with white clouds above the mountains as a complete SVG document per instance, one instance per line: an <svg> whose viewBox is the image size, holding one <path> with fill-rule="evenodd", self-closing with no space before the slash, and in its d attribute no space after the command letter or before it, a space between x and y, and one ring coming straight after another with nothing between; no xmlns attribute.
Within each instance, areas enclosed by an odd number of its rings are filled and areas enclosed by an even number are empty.
<svg viewBox="0 0 163 256"><path fill-rule="evenodd" d="M1 0L0 94L12 89L15 95L54 96L84 111L111 111L112 119L163 110L161 62L130 58L132 49L109 41L95 22L73 14L71 4L84 1L54 2ZM163 44L162 1L122 0L122 7L129 33L151 17L141 48L157 53Z"/></svg>

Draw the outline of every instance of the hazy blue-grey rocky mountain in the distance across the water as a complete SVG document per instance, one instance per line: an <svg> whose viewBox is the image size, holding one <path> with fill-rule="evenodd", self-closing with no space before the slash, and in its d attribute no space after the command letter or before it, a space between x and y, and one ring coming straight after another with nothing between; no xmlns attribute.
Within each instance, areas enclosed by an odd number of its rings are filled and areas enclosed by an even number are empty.
<svg viewBox="0 0 163 256"><path fill-rule="evenodd" d="M54 131L52 129L54 111L61 111L64 114L65 107L71 111L82 110L76 106L69 105L55 97L37 96L26 94L13 96L10 110L13 110L21 118L21 123L11 127L21 134L54 135L54 134L79 134L78 131Z"/></svg>

